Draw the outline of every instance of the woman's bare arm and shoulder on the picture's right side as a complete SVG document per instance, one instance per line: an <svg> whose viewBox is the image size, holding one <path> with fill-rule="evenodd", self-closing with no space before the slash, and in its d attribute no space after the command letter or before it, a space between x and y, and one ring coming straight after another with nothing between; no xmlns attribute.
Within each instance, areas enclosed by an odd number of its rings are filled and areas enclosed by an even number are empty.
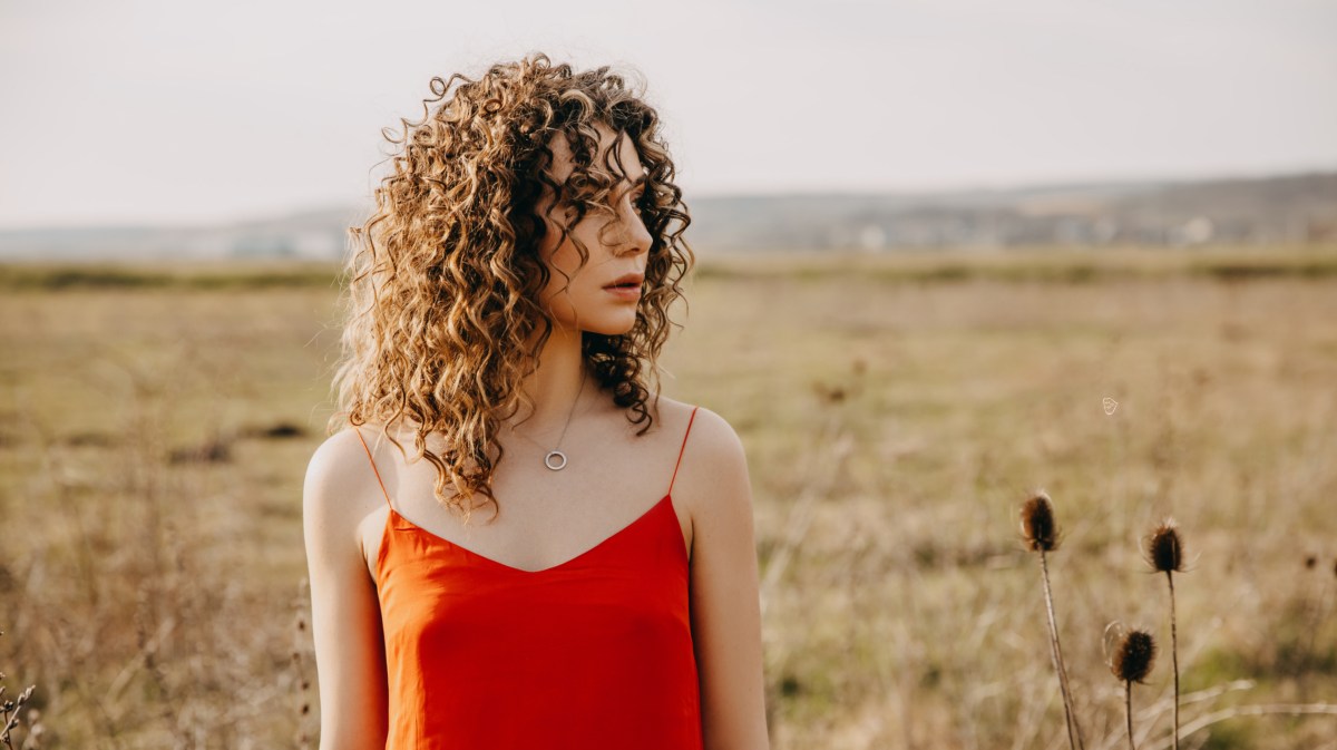
<svg viewBox="0 0 1337 750"><path fill-rule="evenodd" d="M706 409L697 414L686 451L691 620L705 747L762 750L769 741L747 460L733 428Z"/></svg>

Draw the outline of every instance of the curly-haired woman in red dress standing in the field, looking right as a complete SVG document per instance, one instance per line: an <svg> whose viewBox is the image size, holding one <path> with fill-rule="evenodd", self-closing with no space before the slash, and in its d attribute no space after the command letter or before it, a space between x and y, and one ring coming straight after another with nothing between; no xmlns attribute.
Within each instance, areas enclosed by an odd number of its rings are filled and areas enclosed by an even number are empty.
<svg viewBox="0 0 1337 750"><path fill-rule="evenodd" d="M658 115L543 55L432 88L306 476L321 749L766 747L743 452L658 396Z"/></svg>

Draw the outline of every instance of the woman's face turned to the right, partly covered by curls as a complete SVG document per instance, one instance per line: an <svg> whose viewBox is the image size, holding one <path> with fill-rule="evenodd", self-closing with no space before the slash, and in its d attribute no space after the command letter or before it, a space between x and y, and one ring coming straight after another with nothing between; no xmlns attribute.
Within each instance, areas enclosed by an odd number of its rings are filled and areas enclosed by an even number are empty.
<svg viewBox="0 0 1337 750"><path fill-rule="evenodd" d="M618 135L602 124L598 130L595 164L599 168L604 168L604 163L611 164L615 179L619 168L623 170L611 195L616 215L588 211L563 239L566 207L555 206L551 189L544 189L537 213L547 222L547 234L539 243L539 257L548 267L550 278L539 293L539 303L558 329L618 336L631 330L636 322L651 237L636 210L644 190L644 168L635 144L626 134ZM574 171L571 148L562 135L552 139L550 148L552 164L548 174L554 182L563 184ZM616 151L610 154L612 148ZM574 239L579 239L590 254L584 266Z"/></svg>

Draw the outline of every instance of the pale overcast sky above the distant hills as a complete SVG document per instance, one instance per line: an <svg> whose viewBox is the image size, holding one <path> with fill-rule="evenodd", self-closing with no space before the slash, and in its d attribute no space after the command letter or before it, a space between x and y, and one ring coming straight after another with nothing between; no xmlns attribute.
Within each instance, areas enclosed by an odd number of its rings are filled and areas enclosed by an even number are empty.
<svg viewBox="0 0 1337 750"><path fill-rule="evenodd" d="M1337 168L1337 0L0 0L0 230L365 205L537 51L639 74L689 202Z"/></svg>

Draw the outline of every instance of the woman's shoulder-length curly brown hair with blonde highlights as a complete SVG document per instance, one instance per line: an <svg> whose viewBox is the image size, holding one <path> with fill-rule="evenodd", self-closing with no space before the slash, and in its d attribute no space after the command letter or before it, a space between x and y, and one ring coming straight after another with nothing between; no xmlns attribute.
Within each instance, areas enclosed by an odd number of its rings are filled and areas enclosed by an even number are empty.
<svg viewBox="0 0 1337 750"><path fill-rule="evenodd" d="M500 511L491 489L504 453L499 426L532 405L520 384L552 333L539 305L550 277L539 255L548 230L536 213L544 186L564 209L555 219L560 241L587 215L614 211L624 171L608 155L596 163L596 126L635 144L646 171L636 209L652 242L631 330L584 332L582 352L592 380L640 425L636 434L658 412L656 358L694 257L659 116L608 67L576 72L537 53L497 63L477 80L433 78L431 90L420 120L382 130L393 168L374 191L372 215L349 227L332 430L380 425L406 455L390 428L410 428L414 455L436 468L437 501L468 520L477 495ZM545 171L554 136L567 139L575 167L563 184ZM439 452L431 434L444 437Z"/></svg>

